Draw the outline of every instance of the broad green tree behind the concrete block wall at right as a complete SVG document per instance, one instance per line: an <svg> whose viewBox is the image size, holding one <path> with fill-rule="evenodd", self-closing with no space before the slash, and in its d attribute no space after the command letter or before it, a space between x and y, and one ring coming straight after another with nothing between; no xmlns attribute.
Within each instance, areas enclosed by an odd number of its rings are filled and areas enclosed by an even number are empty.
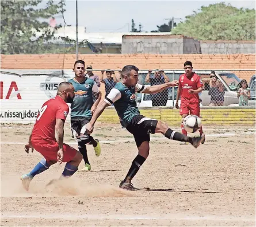
<svg viewBox="0 0 256 227"><path fill-rule="evenodd" d="M225 3L202 6L179 23L173 34L198 40L255 40L255 9L238 9Z"/></svg>

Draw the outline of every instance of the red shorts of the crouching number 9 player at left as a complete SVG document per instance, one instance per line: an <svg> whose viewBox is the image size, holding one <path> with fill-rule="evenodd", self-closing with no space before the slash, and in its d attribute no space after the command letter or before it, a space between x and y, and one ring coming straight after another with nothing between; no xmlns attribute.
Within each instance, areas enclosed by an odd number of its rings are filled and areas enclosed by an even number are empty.
<svg viewBox="0 0 256 227"><path fill-rule="evenodd" d="M57 161L58 160L58 150L59 145L57 142L53 141L52 143L42 144L40 141L33 142L32 145L36 151L38 151L41 155L44 156L46 161ZM67 144L63 144L63 161L62 162L70 162L75 154L77 154L77 150L75 148L68 146Z"/></svg>

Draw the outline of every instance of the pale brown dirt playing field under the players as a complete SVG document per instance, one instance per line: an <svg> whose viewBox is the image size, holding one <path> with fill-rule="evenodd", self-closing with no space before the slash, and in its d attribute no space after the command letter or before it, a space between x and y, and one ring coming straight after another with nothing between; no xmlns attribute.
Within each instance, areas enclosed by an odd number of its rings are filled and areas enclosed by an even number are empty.
<svg viewBox="0 0 256 227"><path fill-rule="evenodd" d="M93 134L102 155L88 147L92 171L46 190L64 168L54 165L24 191L20 176L41 159L23 148L31 127L1 126L1 226L255 226L255 126L205 127L207 141L197 149L152 136L133 179L151 190L137 192L118 187L137 154L133 138L104 124ZM68 124L64 141L77 148Z"/></svg>

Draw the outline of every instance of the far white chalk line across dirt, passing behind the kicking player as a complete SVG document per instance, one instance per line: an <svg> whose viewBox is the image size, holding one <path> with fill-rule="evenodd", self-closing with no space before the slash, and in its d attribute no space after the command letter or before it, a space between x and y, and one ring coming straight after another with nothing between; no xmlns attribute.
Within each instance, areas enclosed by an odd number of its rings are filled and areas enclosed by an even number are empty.
<svg viewBox="0 0 256 227"><path fill-rule="evenodd" d="M255 132L238 132L238 133L223 133L223 134L209 134L205 135L205 137L221 137L221 136L235 136L235 135L253 135ZM166 137L151 137L151 140L162 140L167 139ZM133 139L118 139L118 140L100 140L101 143L112 144L112 143L125 143L125 142L133 142ZM77 142L66 142L69 145L77 145ZM26 144L24 142L0 142L0 144Z"/></svg>

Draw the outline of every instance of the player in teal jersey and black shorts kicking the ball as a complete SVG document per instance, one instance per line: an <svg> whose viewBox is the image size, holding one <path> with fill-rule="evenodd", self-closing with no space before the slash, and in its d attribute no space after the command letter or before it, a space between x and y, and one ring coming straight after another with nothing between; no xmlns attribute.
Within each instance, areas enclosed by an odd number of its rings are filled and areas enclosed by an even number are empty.
<svg viewBox="0 0 256 227"><path fill-rule="evenodd" d="M140 167L146 161L150 151L150 133L162 133L168 139L178 140L181 142L189 142L194 147L198 147L204 139L204 135L200 137L190 138L189 136L182 135L179 132L171 130L165 123L146 118L140 115L139 109L136 106L135 92L143 93L158 93L166 88L178 85L178 81L174 80L165 84L154 85L145 87L144 85L137 84L139 69L134 65L124 66L121 72L121 81L110 91L109 95L98 106L94 112L90 122L86 124L88 133L93 131L93 126L98 117L106 107L114 104L117 114L121 120L123 127L127 128L133 135L139 154L133 160L131 168L127 176L120 183L120 188L126 190L139 190L133 187L131 180L139 171Z"/></svg>

